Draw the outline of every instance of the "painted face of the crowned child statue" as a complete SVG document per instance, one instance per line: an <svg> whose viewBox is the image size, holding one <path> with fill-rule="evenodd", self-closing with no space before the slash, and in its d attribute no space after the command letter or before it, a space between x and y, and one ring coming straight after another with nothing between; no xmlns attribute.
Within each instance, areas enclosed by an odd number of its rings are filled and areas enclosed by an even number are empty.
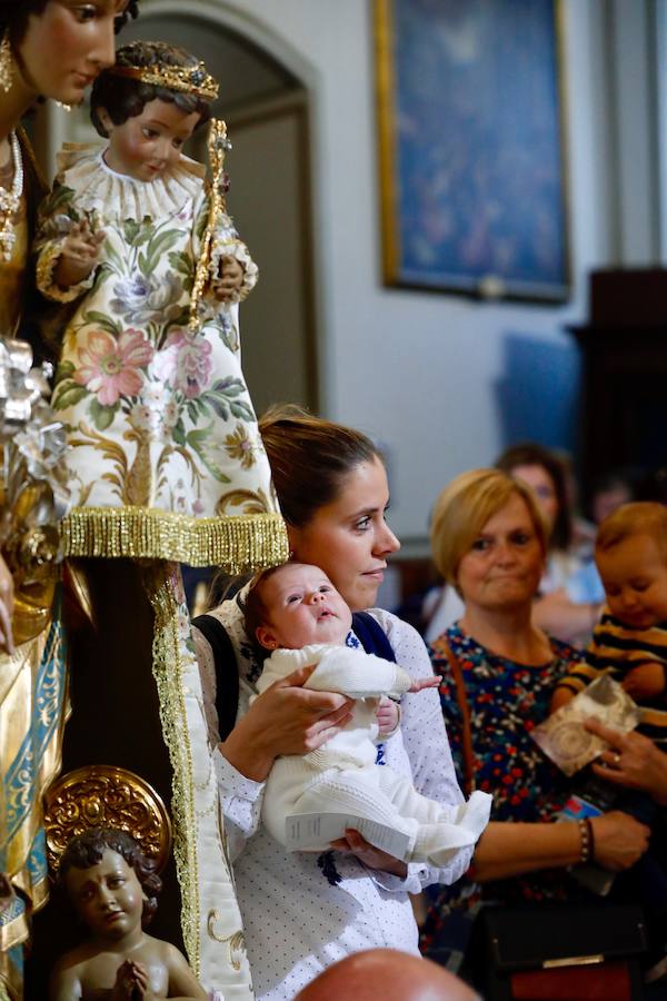
<svg viewBox="0 0 667 1001"><path fill-rule="evenodd" d="M177 162L199 118L199 112L188 115L159 98L149 101L141 115L119 126L100 109L100 119L109 135L107 165L136 180L156 180Z"/></svg>

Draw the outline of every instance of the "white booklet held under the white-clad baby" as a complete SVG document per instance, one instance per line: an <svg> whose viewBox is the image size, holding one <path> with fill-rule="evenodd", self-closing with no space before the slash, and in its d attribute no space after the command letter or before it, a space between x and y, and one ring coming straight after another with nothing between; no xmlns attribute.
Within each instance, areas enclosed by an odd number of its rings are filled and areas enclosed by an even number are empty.
<svg viewBox="0 0 667 1001"><path fill-rule="evenodd" d="M286 846L289 852L327 851L331 842L344 838L350 827L395 859L405 859L410 846L408 834L349 813L299 813L288 816L285 821Z"/></svg>

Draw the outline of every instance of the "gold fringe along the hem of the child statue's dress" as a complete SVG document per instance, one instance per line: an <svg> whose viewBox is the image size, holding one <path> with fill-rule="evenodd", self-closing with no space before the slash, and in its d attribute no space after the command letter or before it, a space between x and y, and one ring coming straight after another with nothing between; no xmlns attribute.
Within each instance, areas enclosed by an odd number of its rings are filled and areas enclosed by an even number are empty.
<svg viewBox="0 0 667 1001"><path fill-rule="evenodd" d="M168 559L241 574L285 563L279 514L195 518L146 507L74 507L60 523L66 556Z"/></svg>

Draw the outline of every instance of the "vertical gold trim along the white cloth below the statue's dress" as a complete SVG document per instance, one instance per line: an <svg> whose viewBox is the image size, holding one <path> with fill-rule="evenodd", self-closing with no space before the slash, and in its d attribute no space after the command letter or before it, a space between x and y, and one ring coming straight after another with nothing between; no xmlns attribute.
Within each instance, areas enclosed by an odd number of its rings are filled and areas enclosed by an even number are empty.
<svg viewBox="0 0 667 1001"><path fill-rule="evenodd" d="M162 735L169 749L173 770L171 813L173 819L173 859L181 890L181 928L183 944L195 975L201 967L199 940L199 872L197 817L193 796L193 766L186 701L183 663L178 630L178 603L170 576L173 567L162 572L150 568L145 587L156 616L153 634L153 677L160 702Z"/></svg>

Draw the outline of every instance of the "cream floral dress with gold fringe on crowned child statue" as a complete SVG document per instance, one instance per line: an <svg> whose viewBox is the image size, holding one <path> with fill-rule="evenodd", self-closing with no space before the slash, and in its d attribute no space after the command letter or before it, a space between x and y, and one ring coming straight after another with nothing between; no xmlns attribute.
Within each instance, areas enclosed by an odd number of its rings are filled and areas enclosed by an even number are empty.
<svg viewBox="0 0 667 1001"><path fill-rule="evenodd" d="M210 288L200 326L190 291L209 201L203 168L186 157L152 182L118 175L94 147L66 146L42 207L38 284L71 304L53 407L66 423L73 509L70 556L130 556L250 569L287 556L270 468L240 365L238 304ZM53 280L73 222L103 229L100 264L84 281ZM228 216L220 258L257 268Z"/></svg>

